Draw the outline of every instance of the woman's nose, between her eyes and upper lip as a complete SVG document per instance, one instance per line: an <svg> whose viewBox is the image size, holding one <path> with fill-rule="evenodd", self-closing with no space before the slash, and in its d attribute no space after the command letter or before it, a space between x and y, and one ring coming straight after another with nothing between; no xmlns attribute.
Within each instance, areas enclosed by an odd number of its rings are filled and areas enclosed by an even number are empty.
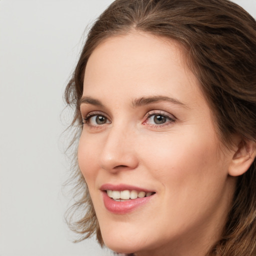
<svg viewBox="0 0 256 256"><path fill-rule="evenodd" d="M120 126L110 128L102 141L104 144L99 157L100 167L113 173L135 169L138 158L134 140L132 129Z"/></svg>

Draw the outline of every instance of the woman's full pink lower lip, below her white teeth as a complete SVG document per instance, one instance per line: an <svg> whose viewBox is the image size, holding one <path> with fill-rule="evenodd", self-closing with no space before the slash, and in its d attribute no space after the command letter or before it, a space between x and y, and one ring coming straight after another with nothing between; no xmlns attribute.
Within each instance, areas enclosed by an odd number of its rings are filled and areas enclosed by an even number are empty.
<svg viewBox="0 0 256 256"><path fill-rule="evenodd" d="M110 198L105 191L103 191L103 202L108 211L116 214L124 214L144 205L151 200L152 196L153 195L125 201L115 201Z"/></svg>

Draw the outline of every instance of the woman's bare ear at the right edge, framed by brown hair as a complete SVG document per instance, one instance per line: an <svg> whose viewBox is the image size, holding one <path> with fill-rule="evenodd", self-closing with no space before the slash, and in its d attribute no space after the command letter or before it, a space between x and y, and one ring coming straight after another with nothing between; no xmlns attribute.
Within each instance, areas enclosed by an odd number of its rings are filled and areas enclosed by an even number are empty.
<svg viewBox="0 0 256 256"><path fill-rule="evenodd" d="M234 151L231 163L228 166L228 174L239 176L246 172L256 156L256 142L252 140L240 140Z"/></svg>

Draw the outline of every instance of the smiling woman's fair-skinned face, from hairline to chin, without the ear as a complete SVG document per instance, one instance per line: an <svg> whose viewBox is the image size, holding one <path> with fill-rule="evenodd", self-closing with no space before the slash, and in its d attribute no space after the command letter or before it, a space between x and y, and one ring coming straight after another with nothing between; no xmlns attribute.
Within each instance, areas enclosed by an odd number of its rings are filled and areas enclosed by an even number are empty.
<svg viewBox="0 0 256 256"><path fill-rule="evenodd" d="M80 108L78 163L106 246L205 252L230 205L232 154L179 45L142 32L106 39L88 60Z"/></svg>

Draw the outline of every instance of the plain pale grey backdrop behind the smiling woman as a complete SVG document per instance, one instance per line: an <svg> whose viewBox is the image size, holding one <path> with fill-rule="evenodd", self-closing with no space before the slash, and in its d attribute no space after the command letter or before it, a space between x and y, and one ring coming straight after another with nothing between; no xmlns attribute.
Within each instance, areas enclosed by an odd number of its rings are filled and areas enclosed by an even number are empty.
<svg viewBox="0 0 256 256"><path fill-rule="evenodd" d="M0 255L110 255L64 223L63 90L112 0L0 0ZM256 0L236 0L256 16ZM150 223L148 223L150 224Z"/></svg>

